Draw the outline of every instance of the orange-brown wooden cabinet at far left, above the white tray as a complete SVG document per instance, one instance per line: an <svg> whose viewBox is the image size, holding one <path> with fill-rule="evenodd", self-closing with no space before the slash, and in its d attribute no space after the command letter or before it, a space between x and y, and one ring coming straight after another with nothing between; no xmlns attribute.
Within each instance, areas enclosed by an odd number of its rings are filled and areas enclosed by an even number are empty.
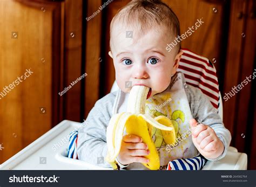
<svg viewBox="0 0 256 187"><path fill-rule="evenodd" d="M80 121L82 1L0 1L0 163L63 119Z"/></svg>

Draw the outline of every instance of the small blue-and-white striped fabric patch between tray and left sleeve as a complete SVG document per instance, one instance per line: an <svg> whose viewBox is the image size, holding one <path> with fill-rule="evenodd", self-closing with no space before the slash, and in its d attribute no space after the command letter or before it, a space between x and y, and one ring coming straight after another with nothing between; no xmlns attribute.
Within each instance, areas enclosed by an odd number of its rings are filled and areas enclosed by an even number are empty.
<svg viewBox="0 0 256 187"><path fill-rule="evenodd" d="M72 131L69 134L69 145L68 145L68 154L67 157L78 159L77 155L77 138L78 138L78 131Z"/></svg>

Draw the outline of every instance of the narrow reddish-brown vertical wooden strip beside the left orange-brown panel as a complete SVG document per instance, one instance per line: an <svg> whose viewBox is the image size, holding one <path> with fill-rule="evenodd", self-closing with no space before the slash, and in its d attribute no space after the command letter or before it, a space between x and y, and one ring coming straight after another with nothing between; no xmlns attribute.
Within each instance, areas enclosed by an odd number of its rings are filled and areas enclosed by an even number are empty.
<svg viewBox="0 0 256 187"><path fill-rule="evenodd" d="M82 0L65 1L64 87L71 85L71 82L75 81L84 73L81 71L82 14ZM64 97L63 119L80 121L81 85L82 81L77 82L75 86L72 86L62 96Z"/></svg>

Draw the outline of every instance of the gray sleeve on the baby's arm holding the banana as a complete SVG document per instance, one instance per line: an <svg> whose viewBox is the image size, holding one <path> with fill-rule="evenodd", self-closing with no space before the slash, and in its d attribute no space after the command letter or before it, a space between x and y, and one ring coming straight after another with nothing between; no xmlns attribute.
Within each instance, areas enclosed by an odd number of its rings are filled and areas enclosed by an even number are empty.
<svg viewBox="0 0 256 187"><path fill-rule="evenodd" d="M98 100L91 109L86 125L78 132L78 159L99 167L109 168L105 161L107 154L106 128L112 116L115 94L110 93Z"/></svg>

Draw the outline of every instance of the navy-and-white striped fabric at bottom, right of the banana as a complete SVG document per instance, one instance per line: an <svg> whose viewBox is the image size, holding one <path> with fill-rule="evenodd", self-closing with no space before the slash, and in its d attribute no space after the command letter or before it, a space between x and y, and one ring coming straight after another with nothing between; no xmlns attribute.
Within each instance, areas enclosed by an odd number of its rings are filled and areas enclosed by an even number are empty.
<svg viewBox="0 0 256 187"><path fill-rule="evenodd" d="M201 170L206 163L203 156L170 161L166 170Z"/></svg>

